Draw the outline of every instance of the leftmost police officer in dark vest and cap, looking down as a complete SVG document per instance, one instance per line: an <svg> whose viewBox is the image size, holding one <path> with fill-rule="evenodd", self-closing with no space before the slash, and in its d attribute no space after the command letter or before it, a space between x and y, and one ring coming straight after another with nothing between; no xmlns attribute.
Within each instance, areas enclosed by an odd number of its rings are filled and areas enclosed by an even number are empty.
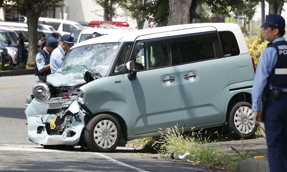
<svg viewBox="0 0 287 172"><path fill-rule="evenodd" d="M49 36L46 38L46 45L36 55L35 75L39 77L41 82L45 82L46 76L51 74L50 70L50 55L58 46L58 40Z"/></svg>

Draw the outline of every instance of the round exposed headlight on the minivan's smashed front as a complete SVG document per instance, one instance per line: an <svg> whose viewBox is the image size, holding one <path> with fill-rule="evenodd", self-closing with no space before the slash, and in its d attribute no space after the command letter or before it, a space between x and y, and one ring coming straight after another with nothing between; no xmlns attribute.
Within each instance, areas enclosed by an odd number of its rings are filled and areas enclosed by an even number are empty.
<svg viewBox="0 0 287 172"><path fill-rule="evenodd" d="M37 82L32 89L33 95L39 101L47 101L50 99L50 91L46 84Z"/></svg>

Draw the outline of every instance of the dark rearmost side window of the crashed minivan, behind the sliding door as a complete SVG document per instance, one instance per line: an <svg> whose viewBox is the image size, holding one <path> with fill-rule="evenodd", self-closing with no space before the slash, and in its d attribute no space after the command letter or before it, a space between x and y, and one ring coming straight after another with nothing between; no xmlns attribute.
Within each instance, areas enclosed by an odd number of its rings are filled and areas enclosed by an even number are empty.
<svg viewBox="0 0 287 172"><path fill-rule="evenodd" d="M237 56L240 54L238 43L236 37L230 31L220 31L218 32L223 57Z"/></svg>

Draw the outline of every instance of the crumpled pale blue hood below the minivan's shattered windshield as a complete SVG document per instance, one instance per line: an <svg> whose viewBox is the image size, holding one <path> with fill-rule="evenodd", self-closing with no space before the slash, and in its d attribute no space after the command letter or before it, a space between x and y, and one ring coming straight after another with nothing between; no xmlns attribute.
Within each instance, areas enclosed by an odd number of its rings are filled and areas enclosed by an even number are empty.
<svg viewBox="0 0 287 172"><path fill-rule="evenodd" d="M84 80L84 72L77 73L54 73L47 76L47 84L51 84L54 87L61 86L75 86L79 84L86 84Z"/></svg>

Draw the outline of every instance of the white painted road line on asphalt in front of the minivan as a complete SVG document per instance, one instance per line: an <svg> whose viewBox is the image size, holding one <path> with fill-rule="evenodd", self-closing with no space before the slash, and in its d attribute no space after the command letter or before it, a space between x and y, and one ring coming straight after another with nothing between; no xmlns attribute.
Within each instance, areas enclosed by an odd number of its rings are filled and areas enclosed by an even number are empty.
<svg viewBox="0 0 287 172"><path fill-rule="evenodd" d="M31 146L31 145L0 145L0 151L31 151L31 152L62 152L62 153L72 153L71 151L61 151L61 150L53 150L53 149L44 149L42 146ZM84 153L84 154L95 154L97 157L104 158L109 162L115 163L120 166L128 167L132 170L139 171L139 172L147 172L140 168L136 168L134 166L130 166L125 164L124 162L120 162L116 159L110 158L106 155L103 155L98 152L77 152L77 153Z"/></svg>

